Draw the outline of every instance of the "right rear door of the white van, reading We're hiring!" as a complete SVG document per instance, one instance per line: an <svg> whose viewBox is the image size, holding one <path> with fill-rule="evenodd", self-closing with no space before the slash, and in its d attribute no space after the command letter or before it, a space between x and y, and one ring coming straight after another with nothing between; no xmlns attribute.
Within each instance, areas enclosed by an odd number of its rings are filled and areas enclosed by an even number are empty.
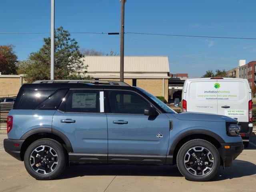
<svg viewBox="0 0 256 192"><path fill-rule="evenodd" d="M218 114L248 122L249 90L244 80L218 79Z"/></svg>

